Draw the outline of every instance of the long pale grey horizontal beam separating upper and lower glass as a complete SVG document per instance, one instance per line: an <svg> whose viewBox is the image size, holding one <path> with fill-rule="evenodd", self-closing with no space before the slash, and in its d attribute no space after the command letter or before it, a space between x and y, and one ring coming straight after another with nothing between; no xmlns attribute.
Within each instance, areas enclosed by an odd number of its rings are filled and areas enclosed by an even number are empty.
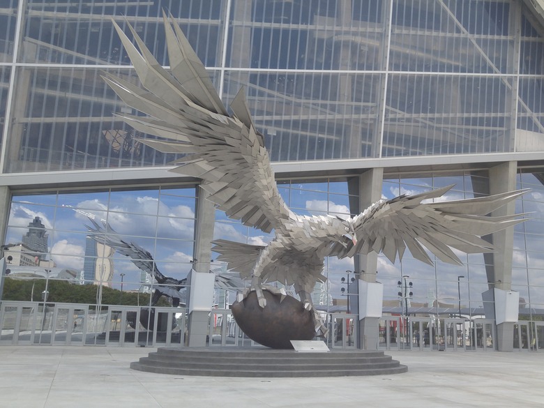
<svg viewBox="0 0 544 408"><path fill-rule="evenodd" d="M500 163L517 161L527 171L542 168L542 152L485 153L448 156L411 156L391 158L359 158L344 160L303 160L272 163L277 179L307 177L356 176L368 169L384 168L384 174L421 174L485 170ZM0 186L10 190L70 190L91 187L124 187L198 184L194 177L169 172L172 167L126 169L88 169L73 172L35 172L3 174Z"/></svg>

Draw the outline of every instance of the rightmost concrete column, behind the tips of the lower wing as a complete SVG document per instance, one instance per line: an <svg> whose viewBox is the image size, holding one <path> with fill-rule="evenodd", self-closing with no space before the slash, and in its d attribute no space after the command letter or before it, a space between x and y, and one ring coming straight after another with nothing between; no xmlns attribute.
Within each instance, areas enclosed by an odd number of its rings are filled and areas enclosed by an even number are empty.
<svg viewBox="0 0 544 408"><path fill-rule="evenodd" d="M489 171L489 192L498 194L515 190L515 176L517 162L507 162L494 166ZM506 216L515 213L515 202L508 203L491 213L492 216ZM512 248L514 242L514 229L508 228L492 235L492 243L495 251L492 252L492 280L490 289L493 287L502 290L512 288ZM499 352L513 351L513 323L497 324L497 350Z"/></svg>

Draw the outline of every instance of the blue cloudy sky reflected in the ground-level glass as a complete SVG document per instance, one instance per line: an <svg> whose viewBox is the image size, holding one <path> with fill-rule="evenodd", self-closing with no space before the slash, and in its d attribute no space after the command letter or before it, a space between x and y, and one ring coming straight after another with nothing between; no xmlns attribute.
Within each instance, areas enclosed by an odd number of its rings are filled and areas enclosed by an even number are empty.
<svg viewBox="0 0 544 408"><path fill-rule="evenodd" d="M476 183L482 186L485 179L478 175L434 176L427 178L386 179L382 197L392 198L399 193L416 194L430 188L453 185L445 199L473 197L471 189ZM517 200L517 211L534 211L529 221L518 225L514 234L512 285L519 290L524 301L544 304L544 188L532 174L519 174L517 186L532 188ZM350 203L347 179L318 180L315 185L309 180L280 181L280 192L287 204L296 213L308 215L333 213L349 216ZM49 259L56 266L80 271L85 257L89 257L89 216L97 222L105 220L119 233L123 240L135 243L150 252L165 275L176 279L186 278L193 258L195 229L195 187L160 188L131 191L93 191L59 193L49 195L20 195L13 197L8 222L6 243L20 243L28 232L28 225L36 216L45 225L48 237ZM273 239L273 232L265 234L259 229L245 227L238 220L230 220L222 211L216 211L214 239L266 245ZM414 259L406 250L400 262L390 262L379 255L377 280L384 283L384 299L398 299L397 282L402 275L413 282L414 302L455 303L463 305L481 304L481 293L489 289L485 260L481 254L466 255L455 251L463 264L446 264L435 260L433 265ZM93 255L93 256L96 256ZM216 254L213 254L213 258ZM432 255L431 255L432 257ZM434 259L434 257L432 257ZM114 287L119 287L121 273L123 282L137 287L142 280L142 271L119 253L112 255L114 262ZM212 266L224 269L220 262ZM353 259L325 259L324 274L328 282L317 292L324 290L327 299L340 299L341 278L346 271L354 271ZM317 294L316 296L319 296Z"/></svg>

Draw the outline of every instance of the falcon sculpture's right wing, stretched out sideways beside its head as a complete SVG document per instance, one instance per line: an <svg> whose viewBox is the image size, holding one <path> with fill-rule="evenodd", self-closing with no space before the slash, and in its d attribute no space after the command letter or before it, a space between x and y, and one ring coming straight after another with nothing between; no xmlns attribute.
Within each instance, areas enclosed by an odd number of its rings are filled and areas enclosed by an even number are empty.
<svg viewBox="0 0 544 408"><path fill-rule="evenodd" d="M382 199L372 204L349 220L355 239L346 243L342 249L337 245L338 254L335 255L352 257L358 252L384 252L391 262L395 262L397 255L402 259L408 247L416 259L432 264L425 247L443 262L462 264L451 248L467 253L492 252L492 243L481 236L525 220L519 218L523 214L503 217L486 214L513 201L527 190L421 204L424 199L441 197L452 187L412 196L402 195L388 201Z"/></svg>

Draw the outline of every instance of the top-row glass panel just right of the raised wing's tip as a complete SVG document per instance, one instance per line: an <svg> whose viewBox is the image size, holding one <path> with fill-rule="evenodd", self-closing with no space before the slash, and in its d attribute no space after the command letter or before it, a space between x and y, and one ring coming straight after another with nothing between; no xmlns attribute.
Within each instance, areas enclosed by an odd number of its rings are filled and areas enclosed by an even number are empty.
<svg viewBox="0 0 544 408"><path fill-rule="evenodd" d="M245 2L235 2L229 66L379 69L384 46L381 2L357 2L345 13L340 13L336 3L258 0L252 2L252 10L245 10Z"/></svg>

